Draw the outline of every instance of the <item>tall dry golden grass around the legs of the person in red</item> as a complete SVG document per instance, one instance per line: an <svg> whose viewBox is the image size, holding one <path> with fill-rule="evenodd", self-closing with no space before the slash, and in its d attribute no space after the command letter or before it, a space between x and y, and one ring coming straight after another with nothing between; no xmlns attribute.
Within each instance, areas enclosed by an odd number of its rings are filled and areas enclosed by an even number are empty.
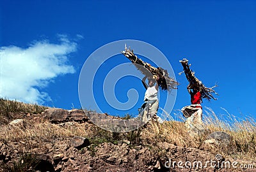
<svg viewBox="0 0 256 172"><path fill-rule="evenodd" d="M152 124L145 129L143 139L152 143L166 141L181 147L200 148L207 136L216 131L223 131L231 136L230 145L209 149L212 153L231 155L232 157L255 160L256 157L256 122L253 118L237 119L232 115L219 117L210 108L204 115L205 133L199 136L190 136L184 122L168 121L163 124ZM176 114L177 115L177 114ZM181 114L178 114L182 118Z"/></svg>

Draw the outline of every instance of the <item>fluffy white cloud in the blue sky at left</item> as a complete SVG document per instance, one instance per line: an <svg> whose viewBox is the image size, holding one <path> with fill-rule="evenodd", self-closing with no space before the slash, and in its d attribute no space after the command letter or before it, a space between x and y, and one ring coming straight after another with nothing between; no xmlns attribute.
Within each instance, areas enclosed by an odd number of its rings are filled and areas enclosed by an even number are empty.
<svg viewBox="0 0 256 172"><path fill-rule="evenodd" d="M0 97L26 103L44 103L51 97L40 92L56 76L75 73L68 55L77 45L60 36L60 44L36 41L28 48L0 47Z"/></svg>

